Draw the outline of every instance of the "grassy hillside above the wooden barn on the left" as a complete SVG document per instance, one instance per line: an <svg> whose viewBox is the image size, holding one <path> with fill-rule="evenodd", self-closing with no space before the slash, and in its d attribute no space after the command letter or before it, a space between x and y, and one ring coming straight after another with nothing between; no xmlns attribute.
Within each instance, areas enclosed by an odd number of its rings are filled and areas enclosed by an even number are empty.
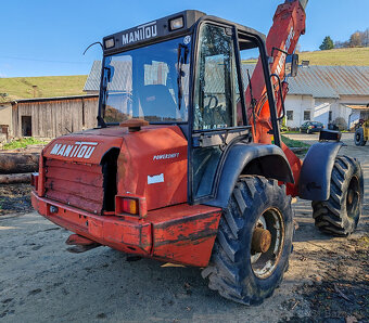
<svg viewBox="0 0 369 323"><path fill-rule="evenodd" d="M87 75L0 78L1 101L80 95ZM36 86L37 88L34 88Z"/></svg>

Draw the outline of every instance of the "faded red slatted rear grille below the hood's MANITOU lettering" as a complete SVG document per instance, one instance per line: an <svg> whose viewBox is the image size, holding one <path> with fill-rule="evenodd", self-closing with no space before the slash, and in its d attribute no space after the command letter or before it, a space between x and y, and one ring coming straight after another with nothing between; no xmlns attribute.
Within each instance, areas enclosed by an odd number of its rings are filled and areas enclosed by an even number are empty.
<svg viewBox="0 0 369 323"><path fill-rule="evenodd" d="M93 214L103 207L103 175L100 165L46 160L46 197Z"/></svg>

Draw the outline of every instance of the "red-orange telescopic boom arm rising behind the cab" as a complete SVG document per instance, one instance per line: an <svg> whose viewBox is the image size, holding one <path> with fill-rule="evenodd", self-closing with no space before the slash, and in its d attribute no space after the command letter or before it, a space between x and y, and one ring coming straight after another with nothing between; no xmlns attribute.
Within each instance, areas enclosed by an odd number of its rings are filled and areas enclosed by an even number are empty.
<svg viewBox="0 0 369 323"><path fill-rule="evenodd" d="M292 54L301 35L305 33L305 7L307 0L287 0L283 4L277 8L273 16L273 24L268 33L266 40L267 53L272 61L270 63L270 74L277 74L283 81L285 53ZM275 88L278 87L277 79L272 79ZM271 143L272 137L268 131L271 129L270 111L266 98L266 88L263 77L263 65L258 60L253 76L251 78L253 86L253 96L256 99L255 111L250 100L250 89L247 88L245 98L247 106L249 120L252 124L253 137L255 142ZM288 83L282 82L282 98L277 96L277 115L281 114L282 100L288 92ZM255 117L255 118L254 118ZM256 126L256 127L255 127ZM289 193L296 195L296 183L301 170L301 160L282 143L282 148L291 165L295 185L289 185Z"/></svg>

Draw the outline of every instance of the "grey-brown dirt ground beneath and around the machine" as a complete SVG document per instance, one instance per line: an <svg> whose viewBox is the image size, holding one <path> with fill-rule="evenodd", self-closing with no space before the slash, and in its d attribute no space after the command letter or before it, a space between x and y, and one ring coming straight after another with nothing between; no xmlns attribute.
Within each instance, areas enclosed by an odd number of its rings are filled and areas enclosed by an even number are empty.
<svg viewBox="0 0 369 323"><path fill-rule="evenodd" d="M318 138L289 137L308 143ZM369 145L356 147L352 133L343 141L341 153L358 158L365 173L357 231L348 238L325 235L314 227L310 204L294 204L300 227L290 269L258 307L222 299L196 268L135 261L107 247L69 254L69 232L28 212L29 188L1 186L0 321L369 322Z"/></svg>

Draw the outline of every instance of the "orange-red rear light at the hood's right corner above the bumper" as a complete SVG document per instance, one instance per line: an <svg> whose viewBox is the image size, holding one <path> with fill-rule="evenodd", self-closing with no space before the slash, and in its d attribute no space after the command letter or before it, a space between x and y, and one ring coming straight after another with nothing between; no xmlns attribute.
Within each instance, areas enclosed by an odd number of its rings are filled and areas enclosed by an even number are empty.
<svg viewBox="0 0 369 323"><path fill-rule="evenodd" d="M148 215L147 199L135 195L116 195L115 214L117 216L132 215L144 218Z"/></svg>

